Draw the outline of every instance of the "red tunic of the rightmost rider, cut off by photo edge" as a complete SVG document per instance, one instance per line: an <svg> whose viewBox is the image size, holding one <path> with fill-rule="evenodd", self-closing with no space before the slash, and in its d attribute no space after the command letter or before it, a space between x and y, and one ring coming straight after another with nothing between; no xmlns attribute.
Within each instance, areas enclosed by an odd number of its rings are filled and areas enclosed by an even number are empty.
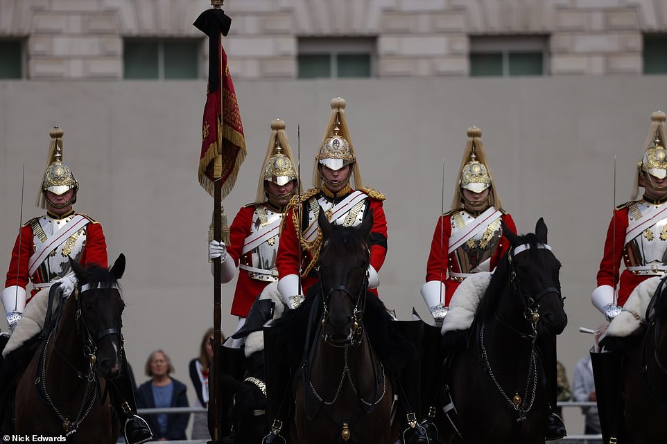
<svg viewBox="0 0 667 444"><path fill-rule="evenodd" d="M609 222L609 229L607 229L607 239L605 240L605 251L603 258L600 261L600 269L598 271L598 287L600 285L611 285L616 289L618 284L618 269L621 267L621 259L625 257L625 266L629 266L627 256L624 256L625 251L625 230L629 224L628 208L614 210L612 221ZM630 296L634 287L653 276L640 276L632 274L627 269L621 273L621 285L618 287L618 305L623 307L627 297Z"/></svg>

